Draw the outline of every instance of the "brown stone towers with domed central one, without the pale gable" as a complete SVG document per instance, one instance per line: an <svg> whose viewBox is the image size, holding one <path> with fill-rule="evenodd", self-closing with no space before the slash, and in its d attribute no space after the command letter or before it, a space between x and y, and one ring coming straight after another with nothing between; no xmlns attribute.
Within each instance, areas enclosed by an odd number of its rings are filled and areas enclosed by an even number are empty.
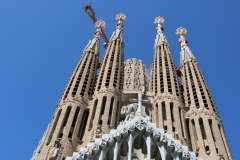
<svg viewBox="0 0 240 160"><path fill-rule="evenodd" d="M143 107L144 114L158 128L172 134L203 159L232 159L212 95L184 37L186 29L177 29L181 45L181 67L177 68L164 35L164 19L155 18L157 34L148 77L141 60L132 58L124 62L126 16L118 14L116 18L116 29L102 61L99 41L105 22L95 23L97 30L85 47L32 159L63 160L109 133L128 116L130 107L122 95L138 92L143 86L153 97L151 109Z"/></svg>

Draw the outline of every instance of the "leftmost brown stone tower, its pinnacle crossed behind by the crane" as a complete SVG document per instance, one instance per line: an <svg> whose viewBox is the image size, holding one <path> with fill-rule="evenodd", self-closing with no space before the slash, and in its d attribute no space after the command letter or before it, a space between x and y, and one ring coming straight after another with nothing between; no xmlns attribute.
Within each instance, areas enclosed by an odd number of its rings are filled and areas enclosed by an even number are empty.
<svg viewBox="0 0 240 160"><path fill-rule="evenodd" d="M33 159L65 159L81 141L89 114L89 96L93 94L99 58L99 40L104 21L97 21L97 30L85 47L72 76L67 83Z"/></svg>

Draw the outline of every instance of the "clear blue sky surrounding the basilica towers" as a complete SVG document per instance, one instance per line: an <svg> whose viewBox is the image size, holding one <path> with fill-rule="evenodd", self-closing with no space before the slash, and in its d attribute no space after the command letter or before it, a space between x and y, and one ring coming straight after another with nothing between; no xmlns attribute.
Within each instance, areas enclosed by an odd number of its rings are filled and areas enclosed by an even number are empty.
<svg viewBox="0 0 240 160"><path fill-rule="evenodd" d="M240 1L231 0L1 0L1 159L32 156L64 87L95 31L82 6L90 2L106 21L108 37L117 13L125 13L125 59L153 59L156 16L179 66L177 27L186 27L190 48L213 93L235 159L240 142ZM103 41L101 42L103 44ZM101 57L104 49L101 49Z"/></svg>

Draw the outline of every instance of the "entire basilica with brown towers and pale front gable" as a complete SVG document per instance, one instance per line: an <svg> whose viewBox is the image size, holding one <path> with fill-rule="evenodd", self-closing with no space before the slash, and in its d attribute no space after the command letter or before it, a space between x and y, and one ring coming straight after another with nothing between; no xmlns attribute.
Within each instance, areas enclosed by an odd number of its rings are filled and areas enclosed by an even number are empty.
<svg viewBox="0 0 240 160"><path fill-rule="evenodd" d="M151 73L142 60L124 61L122 13L99 60L96 31L62 94L31 160L232 160L212 94L178 28L174 64L156 17ZM181 80L181 81L180 81ZM199 158L198 158L199 157Z"/></svg>

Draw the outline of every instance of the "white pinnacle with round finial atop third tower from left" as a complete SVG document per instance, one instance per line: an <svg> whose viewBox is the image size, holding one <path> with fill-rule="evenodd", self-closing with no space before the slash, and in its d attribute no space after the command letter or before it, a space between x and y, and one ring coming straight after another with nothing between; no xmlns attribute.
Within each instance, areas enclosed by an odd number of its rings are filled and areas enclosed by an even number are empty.
<svg viewBox="0 0 240 160"><path fill-rule="evenodd" d="M156 36L155 44L154 44L154 47L156 47L156 46L160 46L164 42L167 42L167 40L163 34L164 28L162 27L162 24L164 23L164 19L162 17L158 16L154 19L154 23L156 23L158 25L156 28L157 36Z"/></svg>

